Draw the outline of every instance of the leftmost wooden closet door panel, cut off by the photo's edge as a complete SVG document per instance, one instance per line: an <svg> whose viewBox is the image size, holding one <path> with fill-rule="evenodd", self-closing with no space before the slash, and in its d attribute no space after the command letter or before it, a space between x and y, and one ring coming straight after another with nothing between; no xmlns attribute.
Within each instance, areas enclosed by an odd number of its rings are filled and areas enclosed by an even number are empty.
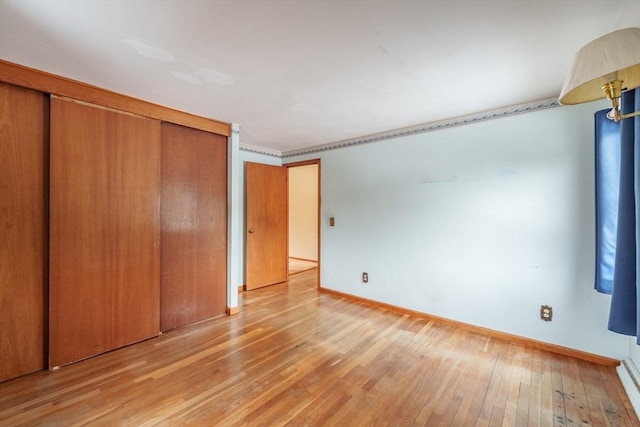
<svg viewBox="0 0 640 427"><path fill-rule="evenodd" d="M45 363L46 105L0 84L0 381Z"/></svg>

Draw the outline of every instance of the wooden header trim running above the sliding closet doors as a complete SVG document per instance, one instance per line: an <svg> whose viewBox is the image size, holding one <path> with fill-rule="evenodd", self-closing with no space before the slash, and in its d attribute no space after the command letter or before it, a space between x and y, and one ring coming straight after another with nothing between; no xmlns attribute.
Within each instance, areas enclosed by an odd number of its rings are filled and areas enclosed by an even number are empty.
<svg viewBox="0 0 640 427"><path fill-rule="evenodd" d="M219 135L231 135L231 124L229 123L153 104L2 59L0 59L0 81Z"/></svg>

